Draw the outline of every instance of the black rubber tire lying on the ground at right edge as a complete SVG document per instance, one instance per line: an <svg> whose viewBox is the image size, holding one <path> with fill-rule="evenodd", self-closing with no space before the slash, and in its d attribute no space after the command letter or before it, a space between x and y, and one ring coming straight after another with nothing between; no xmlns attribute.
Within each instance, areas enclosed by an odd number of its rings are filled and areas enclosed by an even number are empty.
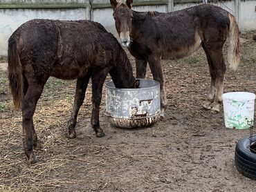
<svg viewBox="0 0 256 192"><path fill-rule="evenodd" d="M256 142L256 135L252 138ZM244 137L235 147L235 166L244 176L256 180L256 153L250 151L249 137Z"/></svg>

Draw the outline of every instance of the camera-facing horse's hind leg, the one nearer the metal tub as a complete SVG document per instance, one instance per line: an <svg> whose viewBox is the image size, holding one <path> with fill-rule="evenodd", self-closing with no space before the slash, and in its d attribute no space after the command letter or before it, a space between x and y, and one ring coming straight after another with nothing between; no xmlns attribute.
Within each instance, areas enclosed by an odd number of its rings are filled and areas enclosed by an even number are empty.
<svg viewBox="0 0 256 192"><path fill-rule="evenodd" d="M208 93L208 97L207 97L206 101L203 103L203 108L205 108L206 110L210 110L211 109L210 105L214 102L214 97L215 97L215 92L216 92L216 73L214 70L214 66L212 64L212 59L210 58L207 48L204 46L204 44L202 44L202 46L203 46L203 50L205 51L205 55L206 55L206 58L208 61L210 77L211 77L210 91Z"/></svg>

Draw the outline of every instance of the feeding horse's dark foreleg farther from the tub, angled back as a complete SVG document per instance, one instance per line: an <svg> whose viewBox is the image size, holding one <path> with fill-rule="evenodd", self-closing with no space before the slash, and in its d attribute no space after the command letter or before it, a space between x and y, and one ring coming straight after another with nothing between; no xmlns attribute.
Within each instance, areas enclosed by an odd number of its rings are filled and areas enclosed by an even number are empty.
<svg viewBox="0 0 256 192"><path fill-rule="evenodd" d="M77 79L73 111L71 113L71 117L68 120L68 138L71 139L76 137L75 125L77 123L77 114L80 106L82 106L82 103L84 102L85 92L89 83L89 79L90 76Z"/></svg>

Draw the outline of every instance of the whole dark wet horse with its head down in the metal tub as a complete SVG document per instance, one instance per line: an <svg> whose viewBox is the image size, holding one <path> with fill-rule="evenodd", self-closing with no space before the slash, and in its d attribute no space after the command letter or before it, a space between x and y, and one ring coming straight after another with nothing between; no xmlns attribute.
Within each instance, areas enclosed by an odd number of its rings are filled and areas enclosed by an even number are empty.
<svg viewBox="0 0 256 192"><path fill-rule="evenodd" d="M22 109L24 150L35 162L39 146L33 124L36 104L48 77L77 79L75 101L68 120L68 137L75 137L77 113L92 81L91 126L104 136L99 122L102 86L110 74L117 88L137 88L127 55L115 37L93 21L34 19L21 25L8 42L8 79L14 104Z"/></svg>

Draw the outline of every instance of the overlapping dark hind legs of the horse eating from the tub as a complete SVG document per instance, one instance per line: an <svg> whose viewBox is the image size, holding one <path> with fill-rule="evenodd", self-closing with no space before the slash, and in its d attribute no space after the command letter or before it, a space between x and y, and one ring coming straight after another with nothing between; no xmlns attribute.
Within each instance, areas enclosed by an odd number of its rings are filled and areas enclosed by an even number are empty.
<svg viewBox="0 0 256 192"><path fill-rule="evenodd" d="M37 158L33 153L33 145L37 146L38 142L37 134L35 133L35 128L33 125L33 115L43 88L44 85L29 85L26 95L22 101L23 145L25 154L28 157L28 162L30 163L37 162Z"/></svg>

